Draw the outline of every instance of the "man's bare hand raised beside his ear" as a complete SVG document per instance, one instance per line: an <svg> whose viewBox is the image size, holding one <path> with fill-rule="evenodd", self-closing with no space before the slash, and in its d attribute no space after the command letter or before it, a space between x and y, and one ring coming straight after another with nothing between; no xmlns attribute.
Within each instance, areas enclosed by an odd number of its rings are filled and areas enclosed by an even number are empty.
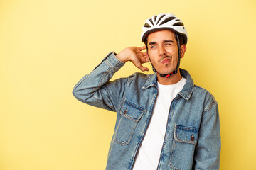
<svg viewBox="0 0 256 170"><path fill-rule="evenodd" d="M149 56L147 55L147 53L142 52L142 50L145 49L146 46L127 47L117 54L117 58L122 62L132 62L137 68L142 70L142 72L149 71L148 68L142 66L143 63L149 62Z"/></svg>

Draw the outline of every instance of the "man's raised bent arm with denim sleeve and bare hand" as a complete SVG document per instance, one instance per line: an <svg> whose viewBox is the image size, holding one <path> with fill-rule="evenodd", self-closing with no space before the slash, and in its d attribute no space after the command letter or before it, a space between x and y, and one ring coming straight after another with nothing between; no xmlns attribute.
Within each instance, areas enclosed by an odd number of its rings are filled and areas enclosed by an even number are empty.
<svg viewBox="0 0 256 170"><path fill-rule="evenodd" d="M127 79L110 81L125 62L131 61L142 71L148 70L142 63L149 62L145 47L127 47L118 55L111 52L90 74L82 77L73 89L73 95L79 101L110 111L117 111L124 96Z"/></svg>

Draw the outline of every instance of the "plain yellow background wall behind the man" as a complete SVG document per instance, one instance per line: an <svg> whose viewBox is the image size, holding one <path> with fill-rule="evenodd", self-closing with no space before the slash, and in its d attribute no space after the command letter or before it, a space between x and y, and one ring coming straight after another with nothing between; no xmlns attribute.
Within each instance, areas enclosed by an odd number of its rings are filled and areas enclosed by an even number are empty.
<svg viewBox="0 0 256 170"><path fill-rule="evenodd" d="M220 169L256 169L255 9L254 0L0 0L0 169L105 169L116 113L77 101L73 86L108 52L143 45L145 19L163 12L188 30L181 68L218 101ZM114 78L133 72L126 64Z"/></svg>

